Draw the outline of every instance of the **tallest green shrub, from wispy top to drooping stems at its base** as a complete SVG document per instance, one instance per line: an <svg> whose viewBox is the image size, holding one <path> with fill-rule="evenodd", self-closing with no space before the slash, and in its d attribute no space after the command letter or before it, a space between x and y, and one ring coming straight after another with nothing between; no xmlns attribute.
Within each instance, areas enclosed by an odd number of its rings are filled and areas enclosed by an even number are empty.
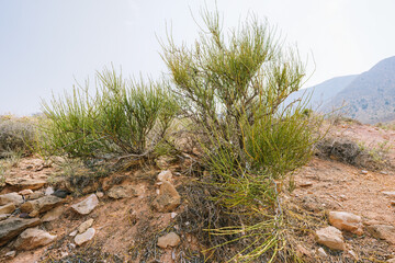
<svg viewBox="0 0 395 263"><path fill-rule="evenodd" d="M228 237L214 251L244 244L219 262L271 262L289 245L278 180L308 160L319 119L305 114L305 101L283 104L301 88L305 70L297 52L267 23L249 18L224 34L217 12L203 12L203 21L192 47L169 37L163 59L182 113L203 133L202 165L219 217L238 215L234 226L210 221L207 231Z"/></svg>

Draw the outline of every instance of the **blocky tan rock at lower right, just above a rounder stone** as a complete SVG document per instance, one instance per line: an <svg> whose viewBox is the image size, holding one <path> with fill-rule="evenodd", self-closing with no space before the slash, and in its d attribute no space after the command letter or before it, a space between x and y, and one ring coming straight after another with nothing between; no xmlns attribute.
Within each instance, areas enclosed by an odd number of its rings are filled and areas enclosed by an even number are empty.
<svg viewBox="0 0 395 263"><path fill-rule="evenodd" d="M340 230L361 236L363 233L362 218L347 211L329 211L329 224Z"/></svg>

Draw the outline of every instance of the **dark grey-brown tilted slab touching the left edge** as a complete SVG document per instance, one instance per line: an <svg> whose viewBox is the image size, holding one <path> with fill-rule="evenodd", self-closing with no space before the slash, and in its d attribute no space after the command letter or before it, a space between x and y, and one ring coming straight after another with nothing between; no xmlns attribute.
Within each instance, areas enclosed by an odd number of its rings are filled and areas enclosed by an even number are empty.
<svg viewBox="0 0 395 263"><path fill-rule="evenodd" d="M22 219L18 217L0 221L0 247L20 235L26 228L35 227L40 225L40 222L38 218Z"/></svg>

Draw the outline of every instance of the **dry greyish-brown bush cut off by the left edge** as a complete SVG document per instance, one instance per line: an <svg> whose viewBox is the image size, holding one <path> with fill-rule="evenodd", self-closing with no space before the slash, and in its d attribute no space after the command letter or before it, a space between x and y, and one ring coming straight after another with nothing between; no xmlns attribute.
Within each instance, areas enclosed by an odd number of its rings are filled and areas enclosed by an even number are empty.
<svg viewBox="0 0 395 263"><path fill-rule="evenodd" d="M35 122L27 117L0 116L0 158L31 155L36 139Z"/></svg>

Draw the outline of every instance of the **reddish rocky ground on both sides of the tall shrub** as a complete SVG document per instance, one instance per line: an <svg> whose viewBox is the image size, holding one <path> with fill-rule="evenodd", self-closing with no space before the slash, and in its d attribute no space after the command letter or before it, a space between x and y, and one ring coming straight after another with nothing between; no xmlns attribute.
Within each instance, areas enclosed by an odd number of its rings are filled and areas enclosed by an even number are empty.
<svg viewBox="0 0 395 263"><path fill-rule="evenodd" d="M293 174L283 202L320 218L296 237L297 253L307 262L395 262L395 130L341 123L329 136L385 151L385 162L374 170L314 157ZM203 245L177 220L189 205L184 168L117 172L77 194L54 175L55 163L20 160L0 188L0 262L204 262Z"/></svg>

